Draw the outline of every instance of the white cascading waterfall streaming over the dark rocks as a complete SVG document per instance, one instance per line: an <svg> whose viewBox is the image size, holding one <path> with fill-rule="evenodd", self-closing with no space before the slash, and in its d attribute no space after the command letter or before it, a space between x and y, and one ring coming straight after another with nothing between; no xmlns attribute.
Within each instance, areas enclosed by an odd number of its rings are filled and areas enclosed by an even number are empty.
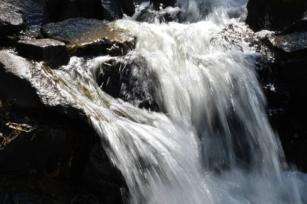
<svg viewBox="0 0 307 204"><path fill-rule="evenodd" d="M125 202L307 203L306 178L289 172L266 117L257 54L243 41L244 52L210 43L230 24L245 32L247 1L178 3L184 24L115 23L137 37L129 55L146 61L144 72L164 114L99 88L97 69L109 57L75 57L57 71L75 85L63 89L89 115L122 172Z"/></svg>

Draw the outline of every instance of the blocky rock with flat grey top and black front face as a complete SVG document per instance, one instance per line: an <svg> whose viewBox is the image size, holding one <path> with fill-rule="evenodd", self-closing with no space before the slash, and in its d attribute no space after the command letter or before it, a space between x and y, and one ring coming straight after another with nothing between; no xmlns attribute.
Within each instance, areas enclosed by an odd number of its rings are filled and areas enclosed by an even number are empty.
<svg viewBox="0 0 307 204"><path fill-rule="evenodd" d="M16 49L20 56L43 61L52 69L70 61L65 44L54 39L19 40Z"/></svg>

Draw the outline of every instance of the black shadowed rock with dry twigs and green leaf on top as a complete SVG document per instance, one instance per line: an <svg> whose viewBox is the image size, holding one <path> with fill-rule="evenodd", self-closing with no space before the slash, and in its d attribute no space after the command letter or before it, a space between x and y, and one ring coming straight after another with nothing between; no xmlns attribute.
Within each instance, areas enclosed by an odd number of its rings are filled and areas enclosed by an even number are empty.
<svg viewBox="0 0 307 204"><path fill-rule="evenodd" d="M30 122L30 121L28 121ZM58 167L66 132L50 127L2 123L0 172L7 178L31 175L42 178Z"/></svg>

